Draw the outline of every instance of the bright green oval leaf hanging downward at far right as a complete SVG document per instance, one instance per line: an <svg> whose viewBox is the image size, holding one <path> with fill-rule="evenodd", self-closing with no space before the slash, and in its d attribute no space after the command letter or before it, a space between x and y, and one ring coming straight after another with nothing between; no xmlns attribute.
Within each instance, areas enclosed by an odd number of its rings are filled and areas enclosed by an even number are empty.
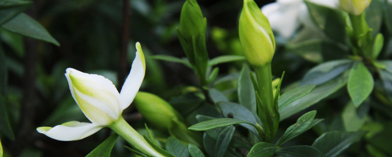
<svg viewBox="0 0 392 157"><path fill-rule="evenodd" d="M368 68L362 63L356 63L348 76L347 90L355 107L365 101L373 91L374 80Z"/></svg>

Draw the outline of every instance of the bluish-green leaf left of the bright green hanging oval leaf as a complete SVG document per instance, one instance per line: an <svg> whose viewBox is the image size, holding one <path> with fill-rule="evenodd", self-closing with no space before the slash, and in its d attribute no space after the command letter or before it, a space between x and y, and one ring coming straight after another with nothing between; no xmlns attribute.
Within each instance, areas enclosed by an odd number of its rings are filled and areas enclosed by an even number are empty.
<svg viewBox="0 0 392 157"><path fill-rule="evenodd" d="M333 78L338 77L346 71L352 64L352 60L342 59L322 63L309 70L300 85L304 84L323 84Z"/></svg>

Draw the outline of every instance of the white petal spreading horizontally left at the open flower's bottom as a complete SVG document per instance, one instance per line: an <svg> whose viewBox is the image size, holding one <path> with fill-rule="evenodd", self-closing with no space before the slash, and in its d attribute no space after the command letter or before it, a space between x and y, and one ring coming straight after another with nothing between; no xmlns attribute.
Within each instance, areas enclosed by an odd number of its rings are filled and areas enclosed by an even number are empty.
<svg viewBox="0 0 392 157"><path fill-rule="evenodd" d="M80 123L71 121L62 125L51 127L39 127L37 131L43 133L50 138L60 141L73 141L83 139L87 136L102 129L101 126L97 126L92 123Z"/></svg>

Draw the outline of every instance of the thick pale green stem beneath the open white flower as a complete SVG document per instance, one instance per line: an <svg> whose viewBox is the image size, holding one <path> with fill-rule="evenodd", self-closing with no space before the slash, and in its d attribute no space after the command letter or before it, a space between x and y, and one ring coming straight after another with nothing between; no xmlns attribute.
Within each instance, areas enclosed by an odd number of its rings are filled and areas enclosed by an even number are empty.
<svg viewBox="0 0 392 157"><path fill-rule="evenodd" d="M152 157L165 157L152 148L143 136L133 129L122 116L108 127L123 137L123 139L125 139L125 141L127 141L131 146L135 147L144 154Z"/></svg>

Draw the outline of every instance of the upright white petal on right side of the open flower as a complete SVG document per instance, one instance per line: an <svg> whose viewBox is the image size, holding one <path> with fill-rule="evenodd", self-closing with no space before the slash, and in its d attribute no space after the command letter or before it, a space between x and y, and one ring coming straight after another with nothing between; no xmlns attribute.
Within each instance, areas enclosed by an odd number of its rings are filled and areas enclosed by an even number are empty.
<svg viewBox="0 0 392 157"><path fill-rule="evenodd" d="M120 92L122 109L125 109L132 103L136 93L142 85L144 75L146 73L146 60L139 42L136 43L136 50L136 56L132 62L131 71L125 79L123 88Z"/></svg>

